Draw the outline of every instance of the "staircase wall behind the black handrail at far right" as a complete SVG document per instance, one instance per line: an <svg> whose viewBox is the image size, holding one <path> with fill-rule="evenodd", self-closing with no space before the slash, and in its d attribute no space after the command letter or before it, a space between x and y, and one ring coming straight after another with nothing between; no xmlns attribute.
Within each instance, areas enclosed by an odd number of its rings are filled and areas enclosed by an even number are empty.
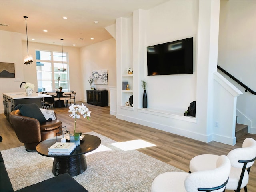
<svg viewBox="0 0 256 192"><path fill-rule="evenodd" d="M220 1L218 65L256 91L256 1ZM222 72L220 72L222 74ZM225 75L224 75L225 76ZM228 78L228 77L227 77ZM228 78L243 94L237 98L237 122L256 134L256 96Z"/></svg>

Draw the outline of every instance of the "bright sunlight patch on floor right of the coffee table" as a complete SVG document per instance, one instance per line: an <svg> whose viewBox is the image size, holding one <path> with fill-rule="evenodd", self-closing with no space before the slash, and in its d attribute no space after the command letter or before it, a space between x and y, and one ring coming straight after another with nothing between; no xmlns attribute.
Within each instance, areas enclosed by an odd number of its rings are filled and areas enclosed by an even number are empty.
<svg viewBox="0 0 256 192"><path fill-rule="evenodd" d="M146 142L141 139L125 141L125 142L117 142L117 143L112 143L111 145L113 145L117 148L120 148L124 151L156 146L155 144Z"/></svg>

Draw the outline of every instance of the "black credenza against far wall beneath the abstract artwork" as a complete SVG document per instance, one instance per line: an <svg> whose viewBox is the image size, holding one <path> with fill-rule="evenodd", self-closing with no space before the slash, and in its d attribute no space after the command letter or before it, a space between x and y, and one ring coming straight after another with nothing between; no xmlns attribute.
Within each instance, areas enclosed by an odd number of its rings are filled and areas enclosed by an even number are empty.
<svg viewBox="0 0 256 192"><path fill-rule="evenodd" d="M107 90L86 90L87 103L101 107L108 106Z"/></svg>

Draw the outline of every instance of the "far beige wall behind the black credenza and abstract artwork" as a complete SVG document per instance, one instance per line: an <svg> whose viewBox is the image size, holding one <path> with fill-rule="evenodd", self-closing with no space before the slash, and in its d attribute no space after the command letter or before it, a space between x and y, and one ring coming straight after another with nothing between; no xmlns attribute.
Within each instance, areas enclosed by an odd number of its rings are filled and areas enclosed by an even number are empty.
<svg viewBox="0 0 256 192"><path fill-rule="evenodd" d="M88 82L93 70L108 70L108 85L95 85L96 89L108 90L108 105L110 106L109 87L116 86L116 40L105 40L81 48L81 74L83 82L83 101L86 102L86 90L90 89ZM94 84L92 84L94 85Z"/></svg>

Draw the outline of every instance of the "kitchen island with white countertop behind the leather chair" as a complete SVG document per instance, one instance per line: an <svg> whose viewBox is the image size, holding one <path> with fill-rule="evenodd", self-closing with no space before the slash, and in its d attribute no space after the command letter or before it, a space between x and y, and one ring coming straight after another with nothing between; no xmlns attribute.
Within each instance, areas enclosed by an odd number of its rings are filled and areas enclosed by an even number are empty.
<svg viewBox="0 0 256 192"><path fill-rule="evenodd" d="M18 104L35 103L41 108L41 99L51 97L51 95L32 93L27 96L25 92L3 93L4 97L4 114L9 121L9 113L14 110Z"/></svg>

